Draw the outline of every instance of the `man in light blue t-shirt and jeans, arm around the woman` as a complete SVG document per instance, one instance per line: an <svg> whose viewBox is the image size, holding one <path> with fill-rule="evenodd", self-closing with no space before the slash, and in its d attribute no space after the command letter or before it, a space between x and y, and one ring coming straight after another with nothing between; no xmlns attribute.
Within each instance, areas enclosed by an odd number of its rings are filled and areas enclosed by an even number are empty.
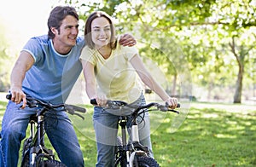
<svg viewBox="0 0 256 167"><path fill-rule="evenodd" d="M48 27L48 36L32 37L26 43L11 72L12 99L2 122L1 166L17 166L20 142L25 138L30 116L35 113L26 107L26 95L53 104L63 103L82 71L79 55L84 38L78 37L79 15L75 9L55 7L49 14ZM119 43L134 45L136 42L125 35ZM79 141L67 113L49 116L45 125L61 162L67 166L84 166Z"/></svg>

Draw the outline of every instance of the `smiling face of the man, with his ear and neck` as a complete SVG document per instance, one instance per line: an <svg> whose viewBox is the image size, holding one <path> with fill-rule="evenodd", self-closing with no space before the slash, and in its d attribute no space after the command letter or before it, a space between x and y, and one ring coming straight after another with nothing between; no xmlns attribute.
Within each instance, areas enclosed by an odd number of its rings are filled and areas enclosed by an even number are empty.
<svg viewBox="0 0 256 167"><path fill-rule="evenodd" d="M62 20L60 30L52 28L55 37L53 39L54 47L60 54L67 54L70 49L76 44L76 39L79 34L79 20L72 15Z"/></svg>

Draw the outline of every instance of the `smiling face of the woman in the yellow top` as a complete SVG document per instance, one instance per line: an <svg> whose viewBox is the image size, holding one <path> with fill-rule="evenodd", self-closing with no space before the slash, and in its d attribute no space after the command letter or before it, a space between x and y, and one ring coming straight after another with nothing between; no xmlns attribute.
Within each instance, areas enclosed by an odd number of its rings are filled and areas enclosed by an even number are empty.
<svg viewBox="0 0 256 167"><path fill-rule="evenodd" d="M104 17L96 18L91 22L91 38L96 49L107 46L110 43L111 27L108 20Z"/></svg>

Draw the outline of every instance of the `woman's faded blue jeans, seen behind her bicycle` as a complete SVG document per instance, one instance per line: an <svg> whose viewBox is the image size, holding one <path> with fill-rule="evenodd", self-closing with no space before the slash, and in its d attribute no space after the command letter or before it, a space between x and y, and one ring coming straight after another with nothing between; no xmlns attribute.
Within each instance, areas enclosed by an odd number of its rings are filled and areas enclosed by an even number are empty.
<svg viewBox="0 0 256 167"><path fill-rule="evenodd" d="M135 101L139 104L145 104L143 95ZM141 118L137 118L140 123ZM117 141L119 116L108 113L102 107L94 107L94 128L96 131L97 144L97 163L96 167L112 167L114 164L114 147ZM131 124L131 118L128 119L127 126ZM131 129L128 128L130 133ZM150 156L153 157L152 146L150 141L150 124L148 112L139 124L140 142L149 148Z"/></svg>

